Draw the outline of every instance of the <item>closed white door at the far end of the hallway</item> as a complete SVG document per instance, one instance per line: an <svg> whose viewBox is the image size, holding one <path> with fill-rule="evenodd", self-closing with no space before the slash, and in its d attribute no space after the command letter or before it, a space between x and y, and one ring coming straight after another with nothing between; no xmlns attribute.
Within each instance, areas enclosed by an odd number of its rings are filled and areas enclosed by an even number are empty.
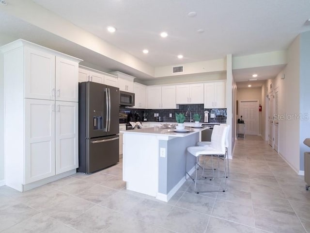
<svg viewBox="0 0 310 233"><path fill-rule="evenodd" d="M245 134L259 134L258 100L240 100L240 116L245 123Z"/></svg>

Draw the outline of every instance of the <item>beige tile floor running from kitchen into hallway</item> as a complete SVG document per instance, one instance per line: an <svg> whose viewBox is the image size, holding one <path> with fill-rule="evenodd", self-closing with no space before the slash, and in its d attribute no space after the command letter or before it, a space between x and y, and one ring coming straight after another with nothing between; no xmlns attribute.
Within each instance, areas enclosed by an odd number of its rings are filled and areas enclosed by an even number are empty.
<svg viewBox="0 0 310 233"><path fill-rule="evenodd" d="M186 182L168 203L126 190L122 163L25 193L2 186L0 232L310 233L310 191L266 142L237 140L230 162L227 192L198 195Z"/></svg>

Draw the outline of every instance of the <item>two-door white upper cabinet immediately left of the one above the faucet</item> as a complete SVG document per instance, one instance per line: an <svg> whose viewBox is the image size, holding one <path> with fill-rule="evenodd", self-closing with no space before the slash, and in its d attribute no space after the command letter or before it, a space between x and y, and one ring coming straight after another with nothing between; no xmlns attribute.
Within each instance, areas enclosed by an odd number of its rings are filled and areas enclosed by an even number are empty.
<svg viewBox="0 0 310 233"><path fill-rule="evenodd" d="M148 86L147 108L176 109L175 85Z"/></svg>

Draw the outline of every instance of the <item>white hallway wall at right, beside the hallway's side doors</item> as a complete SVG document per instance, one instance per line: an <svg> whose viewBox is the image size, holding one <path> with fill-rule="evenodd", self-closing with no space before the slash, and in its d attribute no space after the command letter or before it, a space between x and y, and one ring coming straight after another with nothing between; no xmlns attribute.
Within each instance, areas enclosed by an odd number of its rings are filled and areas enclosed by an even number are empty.
<svg viewBox="0 0 310 233"><path fill-rule="evenodd" d="M300 40L299 35L289 46L287 65L274 80L268 80L273 89L279 87L279 116L288 116L279 120L279 154L299 171L299 119L291 116L299 114L299 67L300 67ZM285 75L285 79L283 78Z"/></svg>

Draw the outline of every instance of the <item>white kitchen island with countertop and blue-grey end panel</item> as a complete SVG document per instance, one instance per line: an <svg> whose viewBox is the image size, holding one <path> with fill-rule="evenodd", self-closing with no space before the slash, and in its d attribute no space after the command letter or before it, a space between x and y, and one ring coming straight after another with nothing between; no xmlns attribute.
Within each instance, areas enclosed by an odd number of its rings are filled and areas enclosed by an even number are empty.
<svg viewBox="0 0 310 233"><path fill-rule="evenodd" d="M168 201L186 181L186 148L196 146L202 130L186 127L188 132L161 127L124 133L123 180L127 189ZM187 169L194 171L195 159L189 156Z"/></svg>

